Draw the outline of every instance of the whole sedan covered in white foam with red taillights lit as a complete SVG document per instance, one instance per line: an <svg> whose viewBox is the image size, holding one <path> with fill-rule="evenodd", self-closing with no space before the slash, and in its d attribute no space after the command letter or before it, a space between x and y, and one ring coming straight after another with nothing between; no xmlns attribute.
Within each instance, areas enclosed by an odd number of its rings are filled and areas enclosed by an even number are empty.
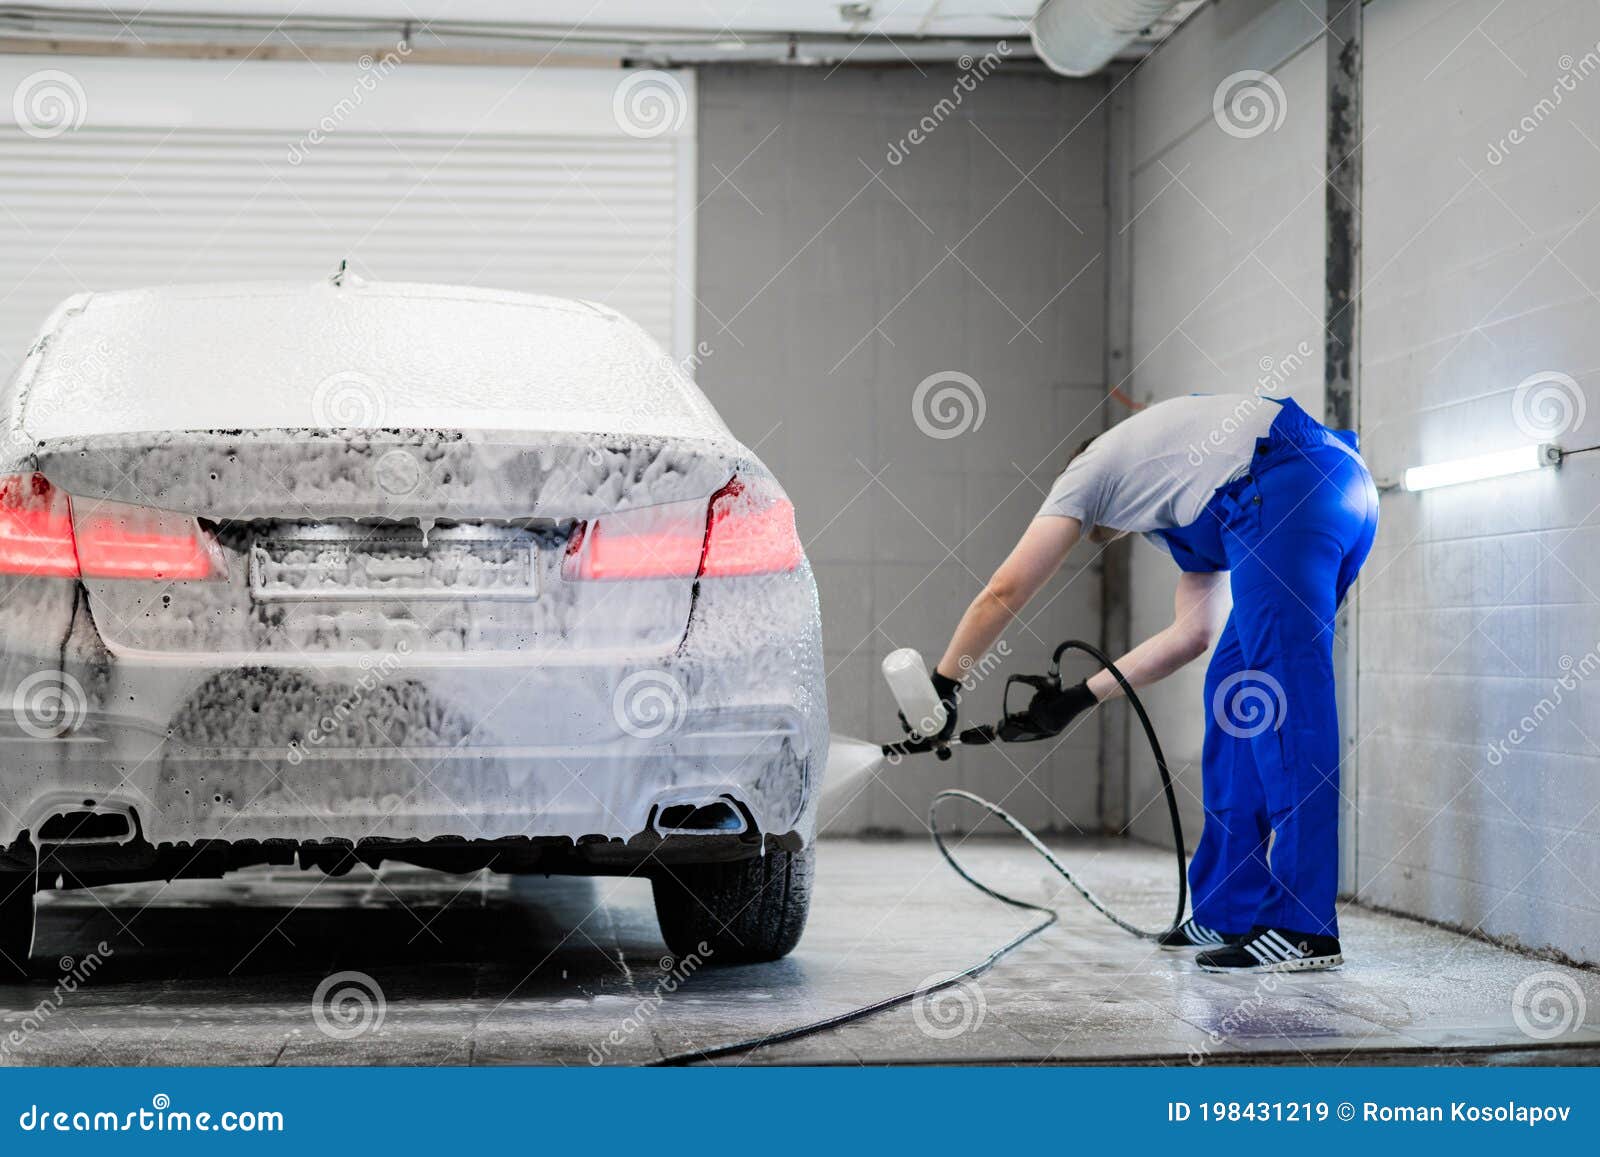
<svg viewBox="0 0 1600 1157"><path fill-rule="evenodd" d="M0 968L37 887L645 874L798 939L827 759L782 488L602 306L80 294L0 397Z"/></svg>

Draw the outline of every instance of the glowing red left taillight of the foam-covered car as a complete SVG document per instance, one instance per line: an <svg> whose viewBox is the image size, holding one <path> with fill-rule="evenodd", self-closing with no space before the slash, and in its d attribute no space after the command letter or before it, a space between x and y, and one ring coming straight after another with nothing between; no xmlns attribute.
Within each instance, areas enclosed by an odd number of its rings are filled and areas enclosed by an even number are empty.
<svg viewBox="0 0 1600 1157"><path fill-rule="evenodd" d="M189 515L96 502L74 526L72 499L43 474L0 478L0 573L42 578L208 579L226 565Z"/></svg>

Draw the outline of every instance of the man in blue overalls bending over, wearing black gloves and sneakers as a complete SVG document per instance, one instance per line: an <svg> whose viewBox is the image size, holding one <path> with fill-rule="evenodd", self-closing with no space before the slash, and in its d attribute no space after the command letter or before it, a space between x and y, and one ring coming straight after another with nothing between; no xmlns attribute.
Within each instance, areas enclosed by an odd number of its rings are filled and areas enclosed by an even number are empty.
<svg viewBox="0 0 1600 1157"><path fill-rule="evenodd" d="M1208 971L1342 963L1333 621L1376 530L1378 491L1352 432L1325 427L1293 400L1219 394L1152 405L1078 448L962 616L933 672L942 735L955 728L955 677L1080 538L1144 534L1182 571L1173 624L1117 666L1146 687L1216 643L1205 679L1205 829L1189 864L1194 914L1162 943L1206 949L1197 962ZM1056 735L1118 693L1101 671L1038 691L1027 714Z"/></svg>

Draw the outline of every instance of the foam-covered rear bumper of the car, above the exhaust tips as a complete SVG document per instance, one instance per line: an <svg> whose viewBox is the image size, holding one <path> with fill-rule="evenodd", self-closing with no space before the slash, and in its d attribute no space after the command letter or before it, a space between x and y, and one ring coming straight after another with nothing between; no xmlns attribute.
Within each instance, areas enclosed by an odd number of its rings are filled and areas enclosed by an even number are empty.
<svg viewBox="0 0 1600 1157"><path fill-rule="evenodd" d="M37 712L5 720L0 848L85 813L123 815L126 842L155 848L627 843L658 834L662 810L714 800L742 816L738 834L808 840L827 759L821 671L758 666L787 674L678 659L69 667L53 672L70 704L58 733L38 733Z"/></svg>

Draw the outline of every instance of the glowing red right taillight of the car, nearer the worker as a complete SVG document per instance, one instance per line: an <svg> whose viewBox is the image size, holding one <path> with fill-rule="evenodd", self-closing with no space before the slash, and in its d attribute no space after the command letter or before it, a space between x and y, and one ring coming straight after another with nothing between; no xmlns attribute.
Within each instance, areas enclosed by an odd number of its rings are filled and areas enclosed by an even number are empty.
<svg viewBox="0 0 1600 1157"><path fill-rule="evenodd" d="M766 483L733 478L706 502L622 510L578 528L566 579L733 578L800 565L794 506Z"/></svg>

